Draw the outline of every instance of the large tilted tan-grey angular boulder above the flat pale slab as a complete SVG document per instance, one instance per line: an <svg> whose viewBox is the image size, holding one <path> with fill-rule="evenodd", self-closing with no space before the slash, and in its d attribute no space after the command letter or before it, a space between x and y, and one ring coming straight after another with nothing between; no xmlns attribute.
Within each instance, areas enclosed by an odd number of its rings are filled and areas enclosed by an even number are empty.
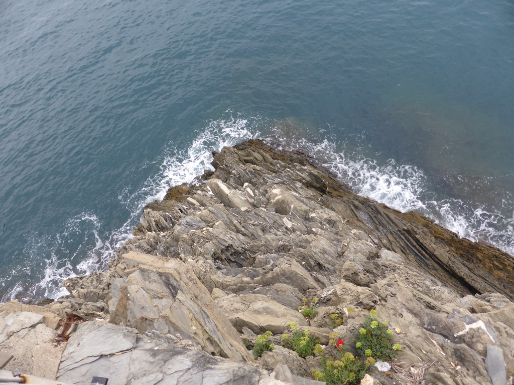
<svg viewBox="0 0 514 385"><path fill-rule="evenodd" d="M179 335L208 353L252 361L241 336L188 265L135 252L125 254L123 262L130 268L111 322L140 333Z"/></svg>

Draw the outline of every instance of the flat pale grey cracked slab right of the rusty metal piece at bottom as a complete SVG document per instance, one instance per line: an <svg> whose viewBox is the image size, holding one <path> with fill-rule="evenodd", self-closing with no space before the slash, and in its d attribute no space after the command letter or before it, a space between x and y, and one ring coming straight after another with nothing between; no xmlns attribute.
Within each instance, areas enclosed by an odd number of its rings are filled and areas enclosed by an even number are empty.
<svg viewBox="0 0 514 385"><path fill-rule="evenodd" d="M259 370L250 364L180 348L171 341L160 333L146 337L123 326L86 322L70 337L58 379L76 385L89 385L93 376L108 378L109 385L259 383Z"/></svg>

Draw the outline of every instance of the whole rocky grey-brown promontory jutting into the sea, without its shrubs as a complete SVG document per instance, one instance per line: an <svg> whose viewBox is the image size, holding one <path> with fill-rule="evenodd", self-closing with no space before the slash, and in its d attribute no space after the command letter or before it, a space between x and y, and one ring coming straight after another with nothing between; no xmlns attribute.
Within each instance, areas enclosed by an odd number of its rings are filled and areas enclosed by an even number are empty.
<svg viewBox="0 0 514 385"><path fill-rule="evenodd" d="M336 338L359 361L373 311L398 348L361 383L512 384L510 255L360 197L301 152L251 140L212 165L144 208L107 272L65 281L54 302L0 306L5 369L84 385L314 385L324 358L284 335L307 330L327 351ZM69 339L54 340L70 314ZM266 332L274 349L255 360Z"/></svg>

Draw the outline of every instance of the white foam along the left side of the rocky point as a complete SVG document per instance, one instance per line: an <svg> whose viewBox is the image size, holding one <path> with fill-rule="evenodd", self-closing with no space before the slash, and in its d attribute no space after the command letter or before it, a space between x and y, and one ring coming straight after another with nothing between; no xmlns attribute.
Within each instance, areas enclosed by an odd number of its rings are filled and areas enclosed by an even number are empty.
<svg viewBox="0 0 514 385"><path fill-rule="evenodd" d="M142 209L146 204L164 198L171 186L190 183L196 176L203 174L205 169L212 170L213 167L210 164L212 151L220 151L225 146L258 137L259 125L259 120L255 118L215 120L197 135L188 149L180 150L170 146L161 157L162 164L158 175L148 178L137 191L130 193L125 190L120 194L121 204L130 210L131 215L123 226L112 232L106 237L107 239L102 240L99 236L102 233L103 224L97 216L90 213L68 220L63 233L56 235L53 239L41 242L40 237L34 236L28 255L33 253L36 255L35 253L38 253L44 244L50 245L51 252L45 259L44 266L41 266L44 271L43 279L33 285L33 290L28 297L59 298L68 294L61 285L62 280L105 269L109 259L114 256L116 248L132 238L132 230L139 222ZM75 239L79 234L84 242L78 247L75 246L75 249L70 252L68 250L70 239ZM36 242L36 239L39 242ZM84 256L87 257L84 258ZM72 266L69 262L74 259L80 261L76 266ZM30 275L30 268L27 275ZM22 290L27 289L21 284L16 285L10 292L10 298L15 298Z"/></svg>

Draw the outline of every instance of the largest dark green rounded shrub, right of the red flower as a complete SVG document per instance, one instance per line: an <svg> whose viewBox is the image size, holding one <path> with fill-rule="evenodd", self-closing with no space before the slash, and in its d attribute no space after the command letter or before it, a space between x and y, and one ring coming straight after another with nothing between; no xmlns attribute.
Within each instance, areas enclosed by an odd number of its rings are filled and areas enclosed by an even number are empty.
<svg viewBox="0 0 514 385"><path fill-rule="evenodd" d="M355 339L357 354L382 361L391 360L396 351L401 350L401 346L392 343L393 331L389 330L387 322L379 322L376 315L377 312L372 310L371 315L364 319L362 328L357 333Z"/></svg>

